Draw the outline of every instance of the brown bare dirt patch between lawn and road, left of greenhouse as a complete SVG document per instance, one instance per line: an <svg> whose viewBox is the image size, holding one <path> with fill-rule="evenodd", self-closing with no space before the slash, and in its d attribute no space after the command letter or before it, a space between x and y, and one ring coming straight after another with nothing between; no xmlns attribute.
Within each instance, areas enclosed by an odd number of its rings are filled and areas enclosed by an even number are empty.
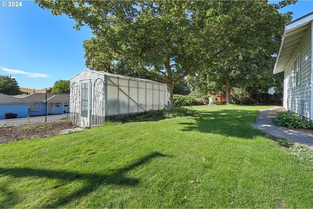
<svg viewBox="0 0 313 209"><path fill-rule="evenodd" d="M64 130L78 130L78 126L68 121L54 121L47 123L25 124L0 127L0 144L27 140L35 137L45 138L59 135Z"/></svg>

